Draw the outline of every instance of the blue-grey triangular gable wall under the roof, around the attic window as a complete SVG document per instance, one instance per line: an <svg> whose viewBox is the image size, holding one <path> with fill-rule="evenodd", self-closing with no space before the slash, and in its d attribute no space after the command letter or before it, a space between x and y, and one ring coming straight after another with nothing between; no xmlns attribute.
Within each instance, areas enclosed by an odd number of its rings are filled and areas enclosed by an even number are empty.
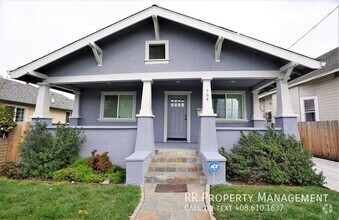
<svg viewBox="0 0 339 220"><path fill-rule="evenodd" d="M221 62L215 62L217 36L208 35L160 18L160 40L169 40L168 64L147 65L145 42L154 40L151 19L96 42L104 52L98 67L89 47L62 58L39 71L49 76L112 73L277 70L272 57L225 40Z"/></svg>

